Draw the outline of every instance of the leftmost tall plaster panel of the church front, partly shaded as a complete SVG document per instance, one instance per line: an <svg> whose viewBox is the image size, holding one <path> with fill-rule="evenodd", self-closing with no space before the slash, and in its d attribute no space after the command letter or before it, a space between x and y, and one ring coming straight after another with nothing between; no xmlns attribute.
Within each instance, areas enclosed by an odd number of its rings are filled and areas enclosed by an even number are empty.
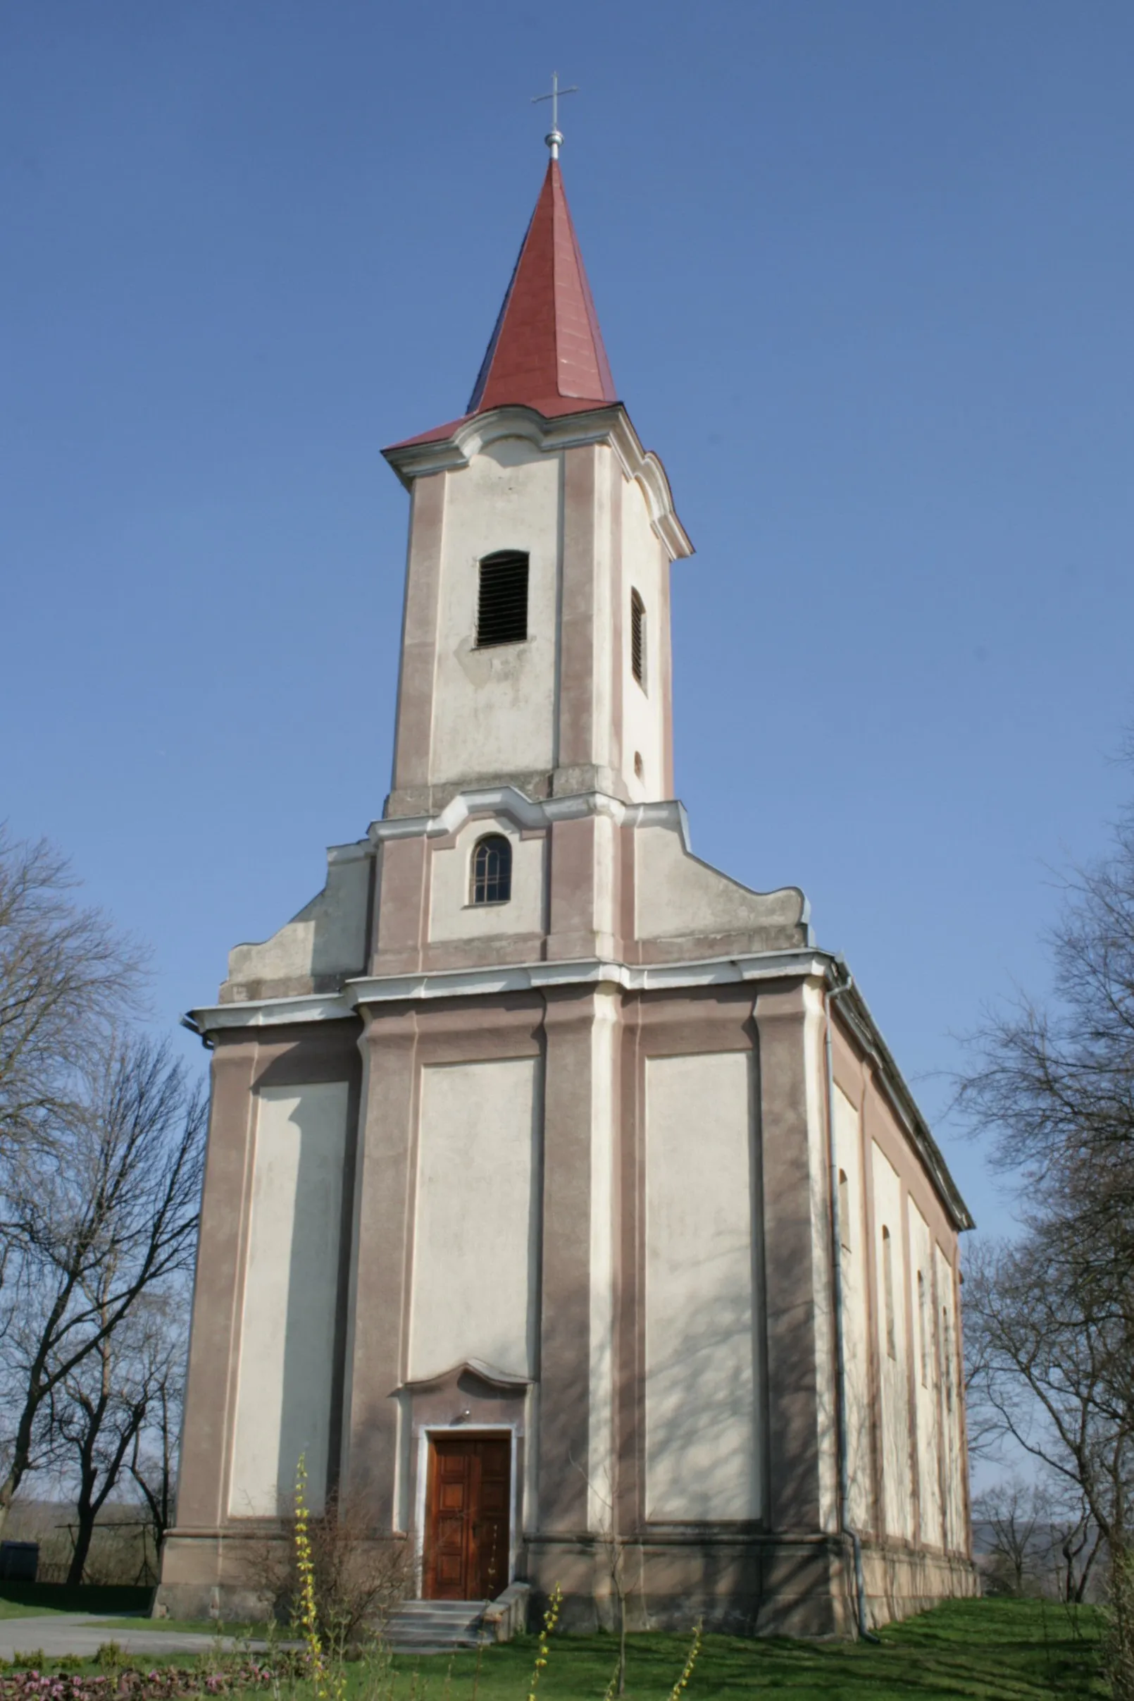
<svg viewBox="0 0 1134 1701"><path fill-rule="evenodd" d="M274 1517L304 1454L326 1493L347 1084L257 1094L230 1514Z"/></svg>

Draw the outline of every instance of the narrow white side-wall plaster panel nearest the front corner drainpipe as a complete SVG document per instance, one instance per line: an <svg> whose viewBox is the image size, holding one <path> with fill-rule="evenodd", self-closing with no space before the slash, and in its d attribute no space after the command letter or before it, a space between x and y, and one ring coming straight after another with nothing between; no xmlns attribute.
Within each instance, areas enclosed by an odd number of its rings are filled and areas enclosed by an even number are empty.
<svg viewBox="0 0 1134 1701"><path fill-rule="evenodd" d="M865 1199L862 1192L862 1131L859 1111L835 1087L835 1153L847 1177L842 1204L843 1363L847 1374L847 1516L853 1529L872 1519L870 1451L870 1298L865 1259Z"/></svg>

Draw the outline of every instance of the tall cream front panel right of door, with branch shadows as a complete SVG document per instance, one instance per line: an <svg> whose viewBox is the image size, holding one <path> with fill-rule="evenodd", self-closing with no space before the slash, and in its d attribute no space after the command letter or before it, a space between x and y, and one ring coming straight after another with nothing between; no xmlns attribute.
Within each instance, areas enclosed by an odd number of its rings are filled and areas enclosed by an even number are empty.
<svg viewBox="0 0 1134 1701"><path fill-rule="evenodd" d="M646 1061L646 1517L762 1510L751 1056Z"/></svg>

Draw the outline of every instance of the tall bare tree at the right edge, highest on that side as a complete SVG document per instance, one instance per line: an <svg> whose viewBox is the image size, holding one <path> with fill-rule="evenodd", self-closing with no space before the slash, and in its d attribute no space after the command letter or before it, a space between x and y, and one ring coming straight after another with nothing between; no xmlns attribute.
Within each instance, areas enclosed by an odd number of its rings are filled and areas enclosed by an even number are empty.
<svg viewBox="0 0 1134 1701"><path fill-rule="evenodd" d="M1066 883L1051 947L1051 1000L989 1014L961 1082L1023 1220L969 1266L967 1337L984 1412L1107 1546L1110 1677L1134 1696L1134 813Z"/></svg>

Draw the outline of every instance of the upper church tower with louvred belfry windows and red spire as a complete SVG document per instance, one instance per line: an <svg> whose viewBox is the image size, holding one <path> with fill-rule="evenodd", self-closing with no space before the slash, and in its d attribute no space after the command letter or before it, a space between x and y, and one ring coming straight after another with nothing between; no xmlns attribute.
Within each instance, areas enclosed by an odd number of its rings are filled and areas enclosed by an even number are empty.
<svg viewBox="0 0 1134 1701"><path fill-rule="evenodd" d="M690 544L617 403L556 160L468 415L386 458L413 498L388 811L491 781L672 796L668 568Z"/></svg>

